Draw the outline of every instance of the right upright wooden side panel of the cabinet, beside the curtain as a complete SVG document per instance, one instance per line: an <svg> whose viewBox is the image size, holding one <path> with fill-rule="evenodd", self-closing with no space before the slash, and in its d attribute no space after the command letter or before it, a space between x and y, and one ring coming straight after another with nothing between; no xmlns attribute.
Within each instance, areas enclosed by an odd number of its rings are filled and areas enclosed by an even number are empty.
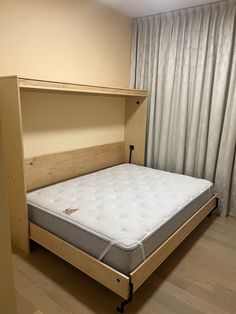
<svg viewBox="0 0 236 314"><path fill-rule="evenodd" d="M127 97L125 116L125 152L129 160L129 145L134 145L132 163L145 164L147 97Z"/></svg>

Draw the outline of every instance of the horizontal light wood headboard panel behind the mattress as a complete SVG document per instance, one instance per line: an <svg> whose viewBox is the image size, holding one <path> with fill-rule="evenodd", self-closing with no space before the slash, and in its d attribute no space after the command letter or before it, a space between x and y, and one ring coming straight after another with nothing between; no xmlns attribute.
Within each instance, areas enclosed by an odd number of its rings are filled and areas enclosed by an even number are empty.
<svg viewBox="0 0 236 314"><path fill-rule="evenodd" d="M125 162L124 142L25 159L27 191Z"/></svg>

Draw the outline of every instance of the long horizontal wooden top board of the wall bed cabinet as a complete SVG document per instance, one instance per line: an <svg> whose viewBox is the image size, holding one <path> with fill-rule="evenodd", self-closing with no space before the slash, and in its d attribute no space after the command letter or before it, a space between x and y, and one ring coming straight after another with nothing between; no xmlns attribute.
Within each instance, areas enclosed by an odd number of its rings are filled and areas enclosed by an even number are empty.
<svg viewBox="0 0 236 314"><path fill-rule="evenodd" d="M6 78L6 77L5 77ZM10 78L10 77L9 77ZM18 80L20 89L25 90L48 90L48 91L61 91L68 93L84 93L95 95L110 95L110 96L129 96L129 97L147 97L147 91L128 88L114 88L102 87L92 85L81 85L73 83L42 81L30 78L23 78L11 76Z"/></svg>

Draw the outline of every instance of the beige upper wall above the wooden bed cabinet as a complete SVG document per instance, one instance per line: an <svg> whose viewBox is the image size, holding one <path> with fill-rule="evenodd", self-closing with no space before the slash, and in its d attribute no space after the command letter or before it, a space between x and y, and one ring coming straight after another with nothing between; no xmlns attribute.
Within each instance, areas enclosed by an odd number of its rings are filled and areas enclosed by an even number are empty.
<svg viewBox="0 0 236 314"><path fill-rule="evenodd" d="M92 0L0 0L0 76L128 87L130 33Z"/></svg>

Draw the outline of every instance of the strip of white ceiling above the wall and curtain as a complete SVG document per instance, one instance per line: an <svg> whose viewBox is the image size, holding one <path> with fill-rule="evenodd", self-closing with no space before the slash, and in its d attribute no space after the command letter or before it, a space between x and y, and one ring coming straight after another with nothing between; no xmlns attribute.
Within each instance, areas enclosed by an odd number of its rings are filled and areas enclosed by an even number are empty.
<svg viewBox="0 0 236 314"><path fill-rule="evenodd" d="M217 0L98 0L130 17L153 15ZM219 0L218 0L219 1Z"/></svg>

